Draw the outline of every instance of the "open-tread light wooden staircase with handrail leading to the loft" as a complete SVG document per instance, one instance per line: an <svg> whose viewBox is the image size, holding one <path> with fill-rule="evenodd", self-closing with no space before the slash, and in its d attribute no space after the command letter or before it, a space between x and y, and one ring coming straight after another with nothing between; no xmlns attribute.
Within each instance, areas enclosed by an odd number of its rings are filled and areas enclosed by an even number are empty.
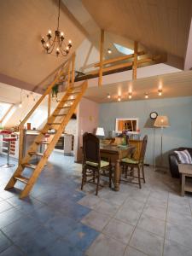
<svg viewBox="0 0 192 256"><path fill-rule="evenodd" d="M72 71L70 71L70 66L72 64ZM65 72L67 70L67 73ZM61 101L57 104L54 112L50 113L50 98L48 99L48 119L44 128L39 132L38 136L34 139L32 145L28 148L26 155L23 157L23 135L24 135L24 125L27 119L32 115L39 104L43 101L45 96L50 97L50 92L53 86L62 79L66 79L65 74L67 74L67 84L64 91L64 95L61 97ZM49 155L55 148L55 144L61 137L62 132L64 131L68 121L71 119L74 110L77 108L84 91L87 88L87 81L84 81L78 87L74 87L74 56L72 60L67 61L65 65L61 67L59 72L56 73L54 81L49 85L47 90L45 90L44 95L39 99L36 105L32 108L30 113L26 115L26 118L20 124L20 157L19 165L10 178L9 183L6 185L5 189L11 189L15 186L17 181L24 183L25 187L21 190L20 198L24 198L29 195L33 185L36 183L38 176L44 169ZM72 98L73 96L73 98ZM45 137L49 134L50 129L54 129L55 133L50 135L49 141L46 141ZM45 145L44 153L38 152L38 148L41 144ZM37 165L30 163L33 156L38 156L40 160ZM24 177L22 172L25 168L32 169L30 177Z"/></svg>

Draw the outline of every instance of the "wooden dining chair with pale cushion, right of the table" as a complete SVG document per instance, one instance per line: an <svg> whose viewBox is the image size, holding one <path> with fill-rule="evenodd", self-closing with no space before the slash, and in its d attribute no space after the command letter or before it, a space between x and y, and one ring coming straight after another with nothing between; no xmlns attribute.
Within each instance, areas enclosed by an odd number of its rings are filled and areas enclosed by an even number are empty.
<svg viewBox="0 0 192 256"><path fill-rule="evenodd" d="M148 143L148 136L146 135L145 137L143 137L142 148L141 148L138 160L135 160L134 158L126 157L126 158L123 158L120 162L123 172L125 173L125 179L123 180L129 183L138 184L139 189L142 189L142 183L141 183L142 179L143 179L143 183L145 183L144 157L145 157L145 152L147 148L147 143ZM137 176L134 176L134 172L136 171L135 168L137 168ZM142 171L142 176L141 176L141 171ZM127 176L132 177L132 179L127 179ZM138 182L135 182L134 178L137 178Z"/></svg>

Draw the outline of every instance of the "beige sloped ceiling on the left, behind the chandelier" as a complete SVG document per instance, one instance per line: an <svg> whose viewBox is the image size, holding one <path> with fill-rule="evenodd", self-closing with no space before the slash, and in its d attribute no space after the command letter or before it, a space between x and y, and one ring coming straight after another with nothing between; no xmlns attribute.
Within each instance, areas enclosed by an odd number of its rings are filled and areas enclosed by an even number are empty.
<svg viewBox="0 0 192 256"><path fill-rule="evenodd" d="M0 1L1 74L36 85L66 61L46 55L40 43L49 29L55 31L57 13L56 0ZM73 52L85 38L84 31L63 4L60 27L72 39Z"/></svg>

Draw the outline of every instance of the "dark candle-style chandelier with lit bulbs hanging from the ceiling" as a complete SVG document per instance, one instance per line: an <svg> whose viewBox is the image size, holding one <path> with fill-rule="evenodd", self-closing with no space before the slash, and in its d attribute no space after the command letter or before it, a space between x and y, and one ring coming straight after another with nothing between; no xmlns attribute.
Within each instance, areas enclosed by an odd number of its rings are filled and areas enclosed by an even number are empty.
<svg viewBox="0 0 192 256"><path fill-rule="evenodd" d="M59 55L67 56L69 53L70 48L72 47L72 41L68 40L67 43L65 43L66 38L64 36L63 32L60 32L59 26L60 26L60 2L59 0L59 10L58 10L58 18L57 18L57 28L55 30L55 36L53 38L52 32L49 30L47 34L47 40L41 38L41 43L46 49L47 54L52 54L52 52L55 50L55 55L58 57Z"/></svg>

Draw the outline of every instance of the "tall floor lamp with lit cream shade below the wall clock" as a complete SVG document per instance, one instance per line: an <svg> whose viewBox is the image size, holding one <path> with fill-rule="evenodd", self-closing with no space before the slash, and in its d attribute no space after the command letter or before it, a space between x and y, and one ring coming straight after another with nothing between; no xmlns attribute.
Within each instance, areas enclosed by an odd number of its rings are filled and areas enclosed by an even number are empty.
<svg viewBox="0 0 192 256"><path fill-rule="evenodd" d="M154 127L159 127L161 130L161 135L160 135L160 170L155 170L156 172L158 171L163 171L162 170L162 165L163 165L163 129L166 127L169 127L169 119L166 115L158 115L157 118L154 121Z"/></svg>

